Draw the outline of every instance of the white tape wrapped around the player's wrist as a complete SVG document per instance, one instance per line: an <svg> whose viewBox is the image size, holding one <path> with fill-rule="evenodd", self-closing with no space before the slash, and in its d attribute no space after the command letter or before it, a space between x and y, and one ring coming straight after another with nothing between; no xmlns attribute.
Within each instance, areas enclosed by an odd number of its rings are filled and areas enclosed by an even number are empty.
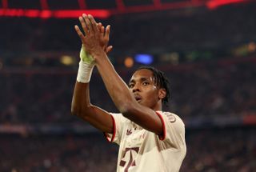
<svg viewBox="0 0 256 172"><path fill-rule="evenodd" d="M94 66L95 66L94 62L86 63L80 60L77 81L82 83L90 82L90 77L94 70Z"/></svg>

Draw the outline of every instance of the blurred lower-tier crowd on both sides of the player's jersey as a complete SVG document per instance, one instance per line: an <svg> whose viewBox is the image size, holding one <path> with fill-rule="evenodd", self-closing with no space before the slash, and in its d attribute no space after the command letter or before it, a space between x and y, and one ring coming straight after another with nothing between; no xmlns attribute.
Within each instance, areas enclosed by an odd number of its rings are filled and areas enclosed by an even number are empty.
<svg viewBox="0 0 256 172"><path fill-rule="evenodd" d="M256 170L255 128L189 130L181 172ZM103 134L0 137L2 172L113 172L118 146ZM171 162L170 162L171 163Z"/></svg>

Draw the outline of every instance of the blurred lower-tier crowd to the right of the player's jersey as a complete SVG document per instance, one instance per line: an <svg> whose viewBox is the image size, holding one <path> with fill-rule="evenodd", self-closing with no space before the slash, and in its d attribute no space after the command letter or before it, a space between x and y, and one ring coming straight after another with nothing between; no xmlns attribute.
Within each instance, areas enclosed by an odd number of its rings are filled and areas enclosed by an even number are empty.
<svg viewBox="0 0 256 172"><path fill-rule="evenodd" d="M255 128L187 130L187 154L181 172L253 172Z"/></svg>

